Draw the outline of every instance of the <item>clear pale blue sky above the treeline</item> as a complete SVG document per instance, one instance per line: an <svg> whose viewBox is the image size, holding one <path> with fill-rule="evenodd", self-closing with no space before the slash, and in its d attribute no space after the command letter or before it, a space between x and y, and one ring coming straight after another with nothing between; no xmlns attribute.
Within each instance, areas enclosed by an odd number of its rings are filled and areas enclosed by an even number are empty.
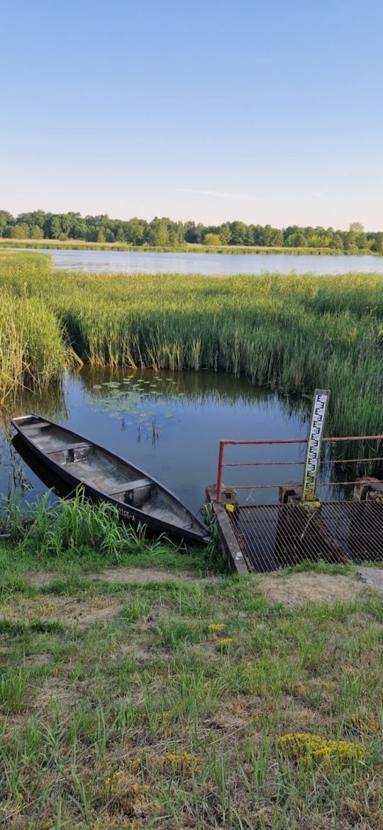
<svg viewBox="0 0 383 830"><path fill-rule="evenodd" d="M383 229L382 0L0 0L0 207Z"/></svg>

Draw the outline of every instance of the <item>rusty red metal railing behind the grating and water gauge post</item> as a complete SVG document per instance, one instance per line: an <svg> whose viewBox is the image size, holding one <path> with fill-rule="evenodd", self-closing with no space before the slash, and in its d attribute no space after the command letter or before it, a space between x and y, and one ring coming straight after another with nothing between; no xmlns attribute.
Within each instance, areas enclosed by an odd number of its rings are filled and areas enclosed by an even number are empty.
<svg viewBox="0 0 383 830"><path fill-rule="evenodd" d="M341 442L355 442L355 441L383 441L383 435L347 435L342 437L327 437L322 438L322 443L327 444L336 444ZM221 503L222 499L222 487L223 487L223 471L225 467L235 467L235 466L303 466L304 461L230 461L225 463L225 447L228 446L265 446L265 445L275 445L275 444L307 444L307 438L269 438L269 439L259 439L259 440L249 440L249 441L236 441L232 438L222 439L220 441L220 449L218 454L218 471L217 471L217 483L216 483L216 501ZM334 460L322 460L320 464L332 465L332 464L352 464L356 462L371 462L371 461L383 461L383 457L361 457L361 458L341 458L341 459L334 459ZM357 479L356 481L322 481L318 484L320 487L330 487L330 486L348 486L348 485L355 485L359 484L360 480ZM226 484L226 487L233 487L235 486L235 490L261 490L261 489L271 489L271 488L278 488L282 482L278 482L275 484L248 484L248 485L232 485Z"/></svg>

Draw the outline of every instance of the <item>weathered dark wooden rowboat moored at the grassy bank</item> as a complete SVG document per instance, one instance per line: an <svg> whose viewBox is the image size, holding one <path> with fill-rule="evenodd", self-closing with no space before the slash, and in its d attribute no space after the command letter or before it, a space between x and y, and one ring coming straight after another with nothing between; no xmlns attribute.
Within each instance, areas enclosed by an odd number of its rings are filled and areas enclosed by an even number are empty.
<svg viewBox="0 0 383 830"><path fill-rule="evenodd" d="M83 487L94 504L108 501L132 525L200 544L209 531L177 496L114 452L38 415L12 419L27 447L65 484Z"/></svg>

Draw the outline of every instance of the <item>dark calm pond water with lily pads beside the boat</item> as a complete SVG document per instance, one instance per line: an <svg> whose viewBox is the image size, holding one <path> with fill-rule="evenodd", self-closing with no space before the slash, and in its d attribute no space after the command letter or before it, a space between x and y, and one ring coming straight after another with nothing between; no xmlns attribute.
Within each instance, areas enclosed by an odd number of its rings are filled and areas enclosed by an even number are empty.
<svg viewBox="0 0 383 830"><path fill-rule="evenodd" d="M33 501L46 491L10 443L12 415L36 412L133 461L152 473L193 510L216 481L220 438L302 437L310 404L252 386L227 374L130 373L126 369L82 369L43 398L26 395L15 411L3 413L0 492L17 486ZM6 434L7 432L7 434ZM297 447L230 447L227 461L302 460ZM302 468L229 468L227 484L272 484L302 475ZM278 489L240 491L241 500L278 500Z"/></svg>

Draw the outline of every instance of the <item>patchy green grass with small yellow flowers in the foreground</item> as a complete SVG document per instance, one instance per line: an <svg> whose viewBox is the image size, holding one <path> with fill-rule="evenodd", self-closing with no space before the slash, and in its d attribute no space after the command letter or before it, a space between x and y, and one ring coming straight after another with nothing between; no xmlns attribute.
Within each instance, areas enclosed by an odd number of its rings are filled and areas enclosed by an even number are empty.
<svg viewBox="0 0 383 830"><path fill-rule="evenodd" d="M383 828L382 594L102 563L0 549L4 830Z"/></svg>

